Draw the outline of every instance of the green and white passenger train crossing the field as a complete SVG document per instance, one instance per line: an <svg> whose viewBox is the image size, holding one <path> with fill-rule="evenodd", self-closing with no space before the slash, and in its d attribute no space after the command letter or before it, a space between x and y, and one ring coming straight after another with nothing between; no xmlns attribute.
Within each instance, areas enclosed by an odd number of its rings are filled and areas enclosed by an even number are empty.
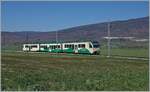
<svg viewBox="0 0 150 92"><path fill-rule="evenodd" d="M98 42L69 42L51 44L23 44L23 51L51 53L99 54Z"/></svg>

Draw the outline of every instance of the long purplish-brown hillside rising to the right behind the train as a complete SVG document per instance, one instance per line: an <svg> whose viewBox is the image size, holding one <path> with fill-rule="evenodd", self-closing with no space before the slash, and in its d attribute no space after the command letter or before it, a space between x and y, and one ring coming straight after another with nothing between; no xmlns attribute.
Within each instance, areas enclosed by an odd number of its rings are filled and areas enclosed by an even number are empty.
<svg viewBox="0 0 150 92"><path fill-rule="evenodd" d="M112 21L111 36L149 37L149 17ZM55 41L56 32L2 32L2 45L11 43ZM107 36L107 23L89 24L58 31L59 41L100 40Z"/></svg>

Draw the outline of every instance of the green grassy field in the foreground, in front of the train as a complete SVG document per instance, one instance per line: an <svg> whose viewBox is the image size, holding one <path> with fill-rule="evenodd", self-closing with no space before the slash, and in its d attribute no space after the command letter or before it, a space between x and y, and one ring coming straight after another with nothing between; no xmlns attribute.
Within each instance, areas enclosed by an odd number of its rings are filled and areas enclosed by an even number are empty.
<svg viewBox="0 0 150 92"><path fill-rule="evenodd" d="M2 90L149 90L149 62L2 52Z"/></svg>

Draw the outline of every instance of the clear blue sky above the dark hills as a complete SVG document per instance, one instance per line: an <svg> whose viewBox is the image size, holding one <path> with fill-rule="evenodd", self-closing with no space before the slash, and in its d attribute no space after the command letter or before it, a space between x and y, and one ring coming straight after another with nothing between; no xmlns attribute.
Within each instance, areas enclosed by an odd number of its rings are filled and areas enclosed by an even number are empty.
<svg viewBox="0 0 150 92"><path fill-rule="evenodd" d="M56 31L148 16L147 1L2 2L2 31Z"/></svg>

